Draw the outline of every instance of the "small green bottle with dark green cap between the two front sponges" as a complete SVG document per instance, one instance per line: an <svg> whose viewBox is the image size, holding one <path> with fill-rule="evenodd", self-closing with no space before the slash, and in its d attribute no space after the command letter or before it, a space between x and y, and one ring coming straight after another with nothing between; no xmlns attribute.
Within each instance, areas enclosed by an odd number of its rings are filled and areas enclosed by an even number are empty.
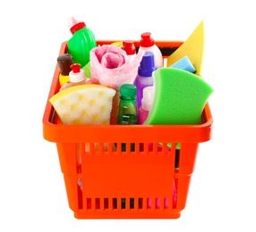
<svg viewBox="0 0 256 232"><path fill-rule="evenodd" d="M124 84L120 87L120 102L118 109L117 124L136 125L138 122L137 87L132 84ZM122 144L122 151L126 150L126 144ZM131 144L131 152L135 150L135 145Z"/></svg>

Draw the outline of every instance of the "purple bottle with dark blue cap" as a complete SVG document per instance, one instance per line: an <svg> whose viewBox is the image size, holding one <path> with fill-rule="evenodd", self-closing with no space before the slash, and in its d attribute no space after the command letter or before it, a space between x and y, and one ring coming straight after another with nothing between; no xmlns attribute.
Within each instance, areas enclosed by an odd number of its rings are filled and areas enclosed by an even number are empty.
<svg viewBox="0 0 256 232"><path fill-rule="evenodd" d="M138 68L138 76L135 79L135 85L137 87L137 106L141 107L141 98L143 95L144 87L150 87L154 84L152 72L157 70L154 61L154 54L152 52L145 52L142 57L140 66Z"/></svg>

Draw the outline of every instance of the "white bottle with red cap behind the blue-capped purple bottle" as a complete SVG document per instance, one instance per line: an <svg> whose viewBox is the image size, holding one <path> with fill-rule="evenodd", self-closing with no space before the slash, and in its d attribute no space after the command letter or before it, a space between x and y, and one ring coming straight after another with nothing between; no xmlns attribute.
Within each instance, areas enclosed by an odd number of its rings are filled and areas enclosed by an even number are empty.
<svg viewBox="0 0 256 232"><path fill-rule="evenodd" d="M154 38L151 37L150 32L144 32L141 34L139 50L149 51L154 54L155 65L157 68L164 67L164 58L158 46L155 44Z"/></svg>

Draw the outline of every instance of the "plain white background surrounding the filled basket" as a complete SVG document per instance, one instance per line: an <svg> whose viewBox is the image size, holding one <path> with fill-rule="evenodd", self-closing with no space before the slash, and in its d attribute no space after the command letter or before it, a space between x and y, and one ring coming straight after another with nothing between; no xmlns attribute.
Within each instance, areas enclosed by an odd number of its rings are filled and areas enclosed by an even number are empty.
<svg viewBox="0 0 256 232"><path fill-rule="evenodd" d="M255 231L255 8L253 1L5 1L0 7L0 231ZM2 3L3 4L3 3ZM200 145L178 220L76 220L42 117L66 20L98 40L185 40L203 20L202 78L213 134Z"/></svg>

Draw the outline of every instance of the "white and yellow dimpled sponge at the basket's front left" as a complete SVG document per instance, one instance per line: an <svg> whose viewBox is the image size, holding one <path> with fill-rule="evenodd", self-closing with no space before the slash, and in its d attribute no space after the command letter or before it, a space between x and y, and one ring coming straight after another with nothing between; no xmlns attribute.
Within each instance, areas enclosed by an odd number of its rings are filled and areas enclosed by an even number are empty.
<svg viewBox="0 0 256 232"><path fill-rule="evenodd" d="M107 125L114 95L114 88L88 84L68 87L49 101L63 124Z"/></svg>

